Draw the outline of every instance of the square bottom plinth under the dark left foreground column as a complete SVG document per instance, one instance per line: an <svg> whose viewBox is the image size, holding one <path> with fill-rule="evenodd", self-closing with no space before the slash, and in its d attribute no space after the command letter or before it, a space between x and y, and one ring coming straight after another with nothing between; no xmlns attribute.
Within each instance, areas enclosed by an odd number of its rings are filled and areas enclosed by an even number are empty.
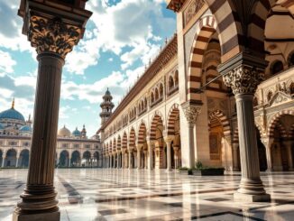
<svg viewBox="0 0 294 221"><path fill-rule="evenodd" d="M60 211L38 214L19 214L14 211L13 221L60 221Z"/></svg>

